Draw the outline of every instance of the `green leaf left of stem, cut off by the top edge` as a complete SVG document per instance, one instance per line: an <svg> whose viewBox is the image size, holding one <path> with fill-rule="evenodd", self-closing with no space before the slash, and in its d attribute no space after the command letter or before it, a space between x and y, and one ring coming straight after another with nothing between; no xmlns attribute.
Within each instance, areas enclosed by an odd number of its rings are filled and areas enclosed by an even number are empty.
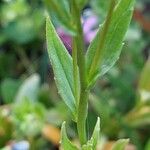
<svg viewBox="0 0 150 150"><path fill-rule="evenodd" d="M66 31L74 35L76 30L70 13L69 1L44 0L44 2L50 16L55 17Z"/></svg>

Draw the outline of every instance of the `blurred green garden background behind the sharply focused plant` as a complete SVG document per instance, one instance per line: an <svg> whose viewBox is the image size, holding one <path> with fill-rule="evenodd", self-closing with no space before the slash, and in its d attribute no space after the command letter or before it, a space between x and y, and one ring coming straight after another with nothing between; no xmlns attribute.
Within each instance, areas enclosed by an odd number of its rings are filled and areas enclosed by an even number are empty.
<svg viewBox="0 0 150 150"><path fill-rule="evenodd" d="M0 149L55 150L60 126L76 127L57 94L45 43L49 1L0 1ZM109 0L91 0L82 20L86 46L107 12ZM70 36L52 14L71 54ZM130 138L131 150L150 150L150 1L137 0L117 64L96 84L89 98L89 136L101 118L104 150L118 138ZM21 147L21 148L20 148ZM105 148L104 148L105 147ZM106 148L107 147L107 148ZM24 149L23 149L24 148Z"/></svg>

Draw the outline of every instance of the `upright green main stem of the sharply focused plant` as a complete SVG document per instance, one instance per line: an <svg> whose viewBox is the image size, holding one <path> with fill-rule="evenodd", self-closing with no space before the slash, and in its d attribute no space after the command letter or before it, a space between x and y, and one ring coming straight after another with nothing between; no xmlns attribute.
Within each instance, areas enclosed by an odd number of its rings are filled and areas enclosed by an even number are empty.
<svg viewBox="0 0 150 150"><path fill-rule="evenodd" d="M79 67L80 76L80 99L78 105L78 118L77 118L77 130L79 135L79 140L81 145L85 144L87 141L86 136L86 118L88 110L88 91L87 88L87 78L86 78L86 68L85 68L85 55L84 55L84 38L83 30L80 18L80 9L78 8L76 1L72 0L73 15L76 20L77 35L74 37L77 46L77 64ZM76 74L77 76L77 74Z"/></svg>

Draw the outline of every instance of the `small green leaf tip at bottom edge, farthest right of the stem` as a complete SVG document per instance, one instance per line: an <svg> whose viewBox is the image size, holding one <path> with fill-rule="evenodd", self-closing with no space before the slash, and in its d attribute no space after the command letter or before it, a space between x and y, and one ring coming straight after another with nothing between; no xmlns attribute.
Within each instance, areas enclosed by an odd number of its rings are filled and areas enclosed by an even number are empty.
<svg viewBox="0 0 150 150"><path fill-rule="evenodd" d="M125 150L125 147L129 143L129 139L118 140L112 147L112 150Z"/></svg>

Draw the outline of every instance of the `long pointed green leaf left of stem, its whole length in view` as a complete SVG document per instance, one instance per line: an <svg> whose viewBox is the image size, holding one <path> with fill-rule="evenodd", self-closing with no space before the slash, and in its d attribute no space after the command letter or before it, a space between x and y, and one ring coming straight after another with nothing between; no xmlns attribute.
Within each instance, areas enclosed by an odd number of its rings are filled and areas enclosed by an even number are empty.
<svg viewBox="0 0 150 150"><path fill-rule="evenodd" d="M46 20L46 38L49 58L53 67L56 85L62 99L76 116L73 95L73 62L65 46L58 37L50 19Z"/></svg>

